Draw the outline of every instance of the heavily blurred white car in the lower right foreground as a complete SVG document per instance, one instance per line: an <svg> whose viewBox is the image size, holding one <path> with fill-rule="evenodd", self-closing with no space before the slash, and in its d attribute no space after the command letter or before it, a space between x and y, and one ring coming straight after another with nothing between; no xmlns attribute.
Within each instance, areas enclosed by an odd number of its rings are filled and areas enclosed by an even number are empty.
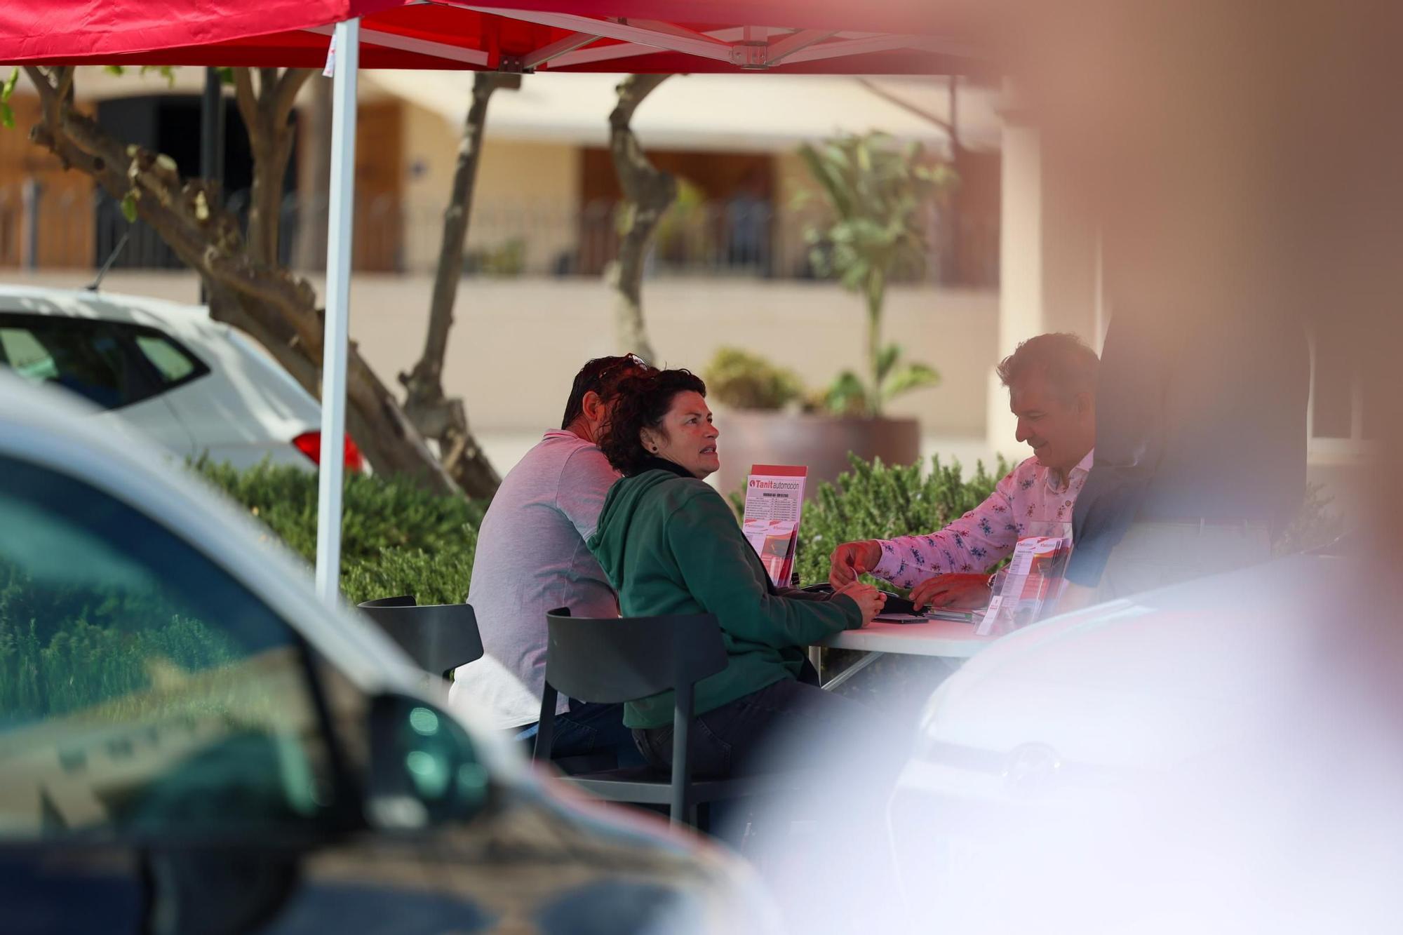
<svg viewBox="0 0 1403 935"><path fill-rule="evenodd" d="M905 900L882 931L1397 931L1396 571L1350 548L969 660L890 802Z"/></svg>

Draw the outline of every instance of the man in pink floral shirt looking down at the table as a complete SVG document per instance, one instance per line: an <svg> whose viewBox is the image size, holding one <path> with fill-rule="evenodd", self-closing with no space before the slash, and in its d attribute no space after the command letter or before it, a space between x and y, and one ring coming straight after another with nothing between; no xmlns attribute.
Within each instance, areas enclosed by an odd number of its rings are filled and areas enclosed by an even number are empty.
<svg viewBox="0 0 1403 935"><path fill-rule="evenodd" d="M1096 444L1096 352L1075 334L1040 334L999 364L1028 458L982 504L939 532L847 542L829 581L871 573L913 588L916 606L984 606L988 571L1023 536L1072 535L1072 507Z"/></svg>

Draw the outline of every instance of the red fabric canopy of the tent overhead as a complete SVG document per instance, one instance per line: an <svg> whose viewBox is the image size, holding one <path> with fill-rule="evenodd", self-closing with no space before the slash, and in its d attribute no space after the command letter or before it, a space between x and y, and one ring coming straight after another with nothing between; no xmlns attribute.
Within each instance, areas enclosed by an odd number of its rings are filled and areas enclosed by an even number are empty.
<svg viewBox="0 0 1403 935"><path fill-rule="evenodd" d="M362 18L361 67L975 74L916 0L0 0L0 62L321 67Z"/></svg>

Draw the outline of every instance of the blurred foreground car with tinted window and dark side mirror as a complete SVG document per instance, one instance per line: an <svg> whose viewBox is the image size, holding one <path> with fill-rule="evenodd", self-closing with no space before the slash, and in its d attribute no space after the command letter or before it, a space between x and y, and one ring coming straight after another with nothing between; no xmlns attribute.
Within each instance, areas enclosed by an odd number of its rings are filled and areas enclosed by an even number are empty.
<svg viewBox="0 0 1403 935"><path fill-rule="evenodd" d="M773 931L567 799L187 472L0 373L0 906L41 932Z"/></svg>

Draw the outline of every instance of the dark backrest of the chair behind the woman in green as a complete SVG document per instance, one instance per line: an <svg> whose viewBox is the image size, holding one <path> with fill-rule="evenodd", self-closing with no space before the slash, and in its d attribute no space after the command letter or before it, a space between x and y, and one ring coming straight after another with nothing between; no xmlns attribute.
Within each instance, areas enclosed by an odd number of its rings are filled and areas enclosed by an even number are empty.
<svg viewBox="0 0 1403 935"><path fill-rule="evenodd" d="M725 668L711 614L582 618L546 615L546 681L582 702L616 705L692 685Z"/></svg>

